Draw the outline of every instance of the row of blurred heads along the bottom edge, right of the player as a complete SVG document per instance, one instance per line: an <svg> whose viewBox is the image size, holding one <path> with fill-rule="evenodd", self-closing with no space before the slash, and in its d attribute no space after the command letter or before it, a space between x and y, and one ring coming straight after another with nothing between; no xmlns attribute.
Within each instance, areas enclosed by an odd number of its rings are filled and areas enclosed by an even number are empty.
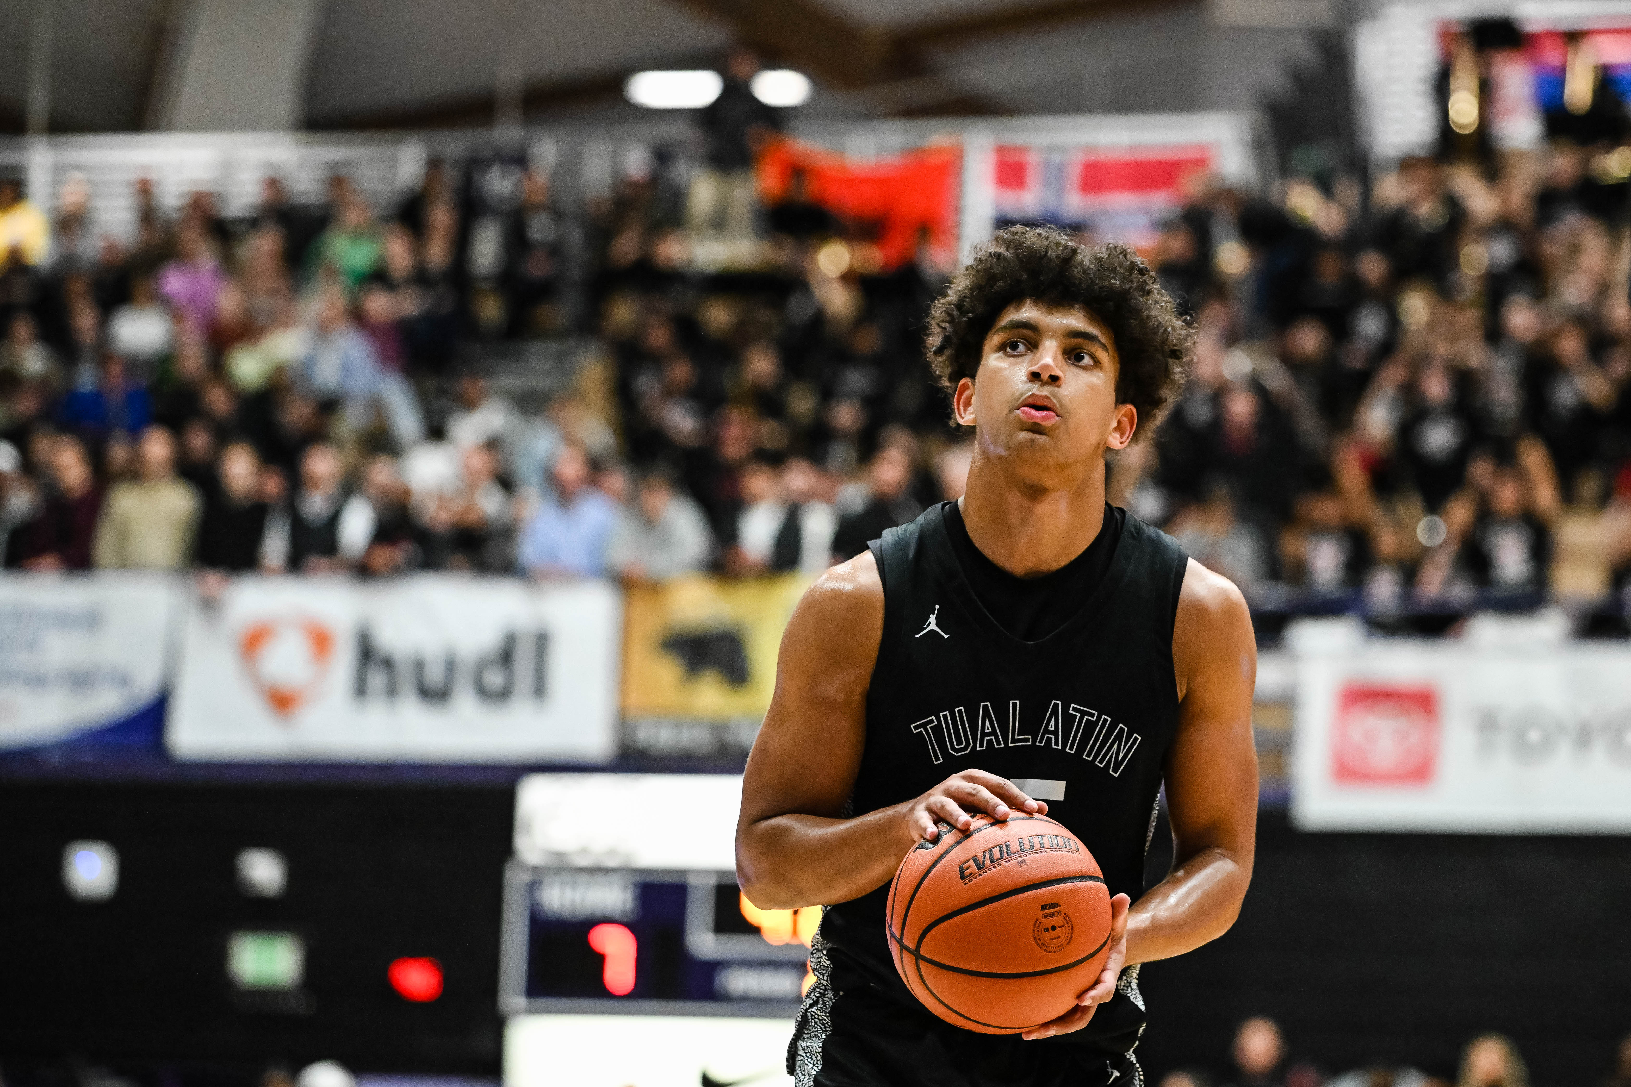
<svg viewBox="0 0 1631 1087"><path fill-rule="evenodd" d="M1631 1035L1618 1053L1605 1054L1611 1072L1602 1087L1631 1085ZM1440 1074L1378 1059L1365 1067L1331 1074L1297 1058L1280 1027L1267 1017L1253 1017L1235 1032L1227 1067L1181 1069L1161 1077L1160 1087L1530 1087L1528 1067L1510 1038L1486 1033L1461 1050L1455 1069Z"/></svg>

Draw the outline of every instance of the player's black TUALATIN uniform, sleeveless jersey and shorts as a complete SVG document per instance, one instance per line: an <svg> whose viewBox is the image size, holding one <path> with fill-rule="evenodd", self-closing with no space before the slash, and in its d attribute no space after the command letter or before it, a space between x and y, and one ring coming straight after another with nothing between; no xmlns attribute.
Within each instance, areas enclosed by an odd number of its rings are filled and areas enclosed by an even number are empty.
<svg viewBox="0 0 1631 1087"><path fill-rule="evenodd" d="M1182 549L1125 515L1103 580L1062 627L1036 642L1008 634L974 596L943 505L886 531L871 549L884 583L884 631L850 813L910 800L962 769L990 771L1047 800L1049 815L1093 852L1111 893L1137 901L1178 725L1173 621L1187 566ZM956 1053L977 1040L988 1051L997 1038L941 1023L897 976L884 935L887 891L886 883L829 906L794 1054L802 1050L819 1066L809 1050L820 1045L814 1035L833 1019L833 1002L842 1007L851 992L922 1012L923 1030L938 1033L941 1050ZM1143 999L1130 968L1083 1030L1011 1041L1124 1054L1142 1030Z"/></svg>

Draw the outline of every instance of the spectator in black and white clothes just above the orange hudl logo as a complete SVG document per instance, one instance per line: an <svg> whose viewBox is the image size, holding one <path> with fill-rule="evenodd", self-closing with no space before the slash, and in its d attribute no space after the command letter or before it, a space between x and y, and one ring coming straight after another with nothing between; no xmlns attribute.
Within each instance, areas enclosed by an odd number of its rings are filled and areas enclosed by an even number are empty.
<svg viewBox="0 0 1631 1087"><path fill-rule="evenodd" d="M331 442L313 442L300 456L300 484L266 523L261 564L297 574L354 569L373 541L377 515L367 497L346 487L346 466Z"/></svg>

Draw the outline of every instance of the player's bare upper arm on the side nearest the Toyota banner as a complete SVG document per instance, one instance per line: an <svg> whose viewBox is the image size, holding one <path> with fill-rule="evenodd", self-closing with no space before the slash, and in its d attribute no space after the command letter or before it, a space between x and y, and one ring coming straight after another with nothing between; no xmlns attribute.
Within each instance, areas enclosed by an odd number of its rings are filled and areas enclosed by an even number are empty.
<svg viewBox="0 0 1631 1087"><path fill-rule="evenodd" d="M1166 761L1174 847L1179 857L1223 847L1249 864L1258 818L1251 613L1235 585L1196 562L1178 606L1173 663L1182 684Z"/></svg>

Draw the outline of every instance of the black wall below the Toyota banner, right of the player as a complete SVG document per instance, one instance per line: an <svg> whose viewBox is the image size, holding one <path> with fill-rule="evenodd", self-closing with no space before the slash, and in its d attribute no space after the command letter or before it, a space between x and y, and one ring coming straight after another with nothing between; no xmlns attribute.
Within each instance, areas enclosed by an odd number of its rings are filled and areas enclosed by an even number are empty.
<svg viewBox="0 0 1631 1087"><path fill-rule="evenodd" d="M1264 812L1240 921L1145 966L1143 992L1153 1076L1225 1074L1235 1023L1272 1015L1328 1074L1453 1082L1461 1046L1496 1030L1536 1087L1590 1087L1631 1033L1631 839L1303 834Z"/></svg>

